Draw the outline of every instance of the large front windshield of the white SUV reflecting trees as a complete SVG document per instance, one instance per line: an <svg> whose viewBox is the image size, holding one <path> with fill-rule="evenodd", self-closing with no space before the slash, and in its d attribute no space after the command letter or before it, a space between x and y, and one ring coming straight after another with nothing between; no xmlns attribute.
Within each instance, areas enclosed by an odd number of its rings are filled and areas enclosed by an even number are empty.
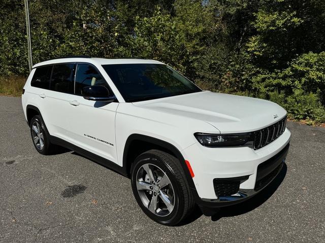
<svg viewBox="0 0 325 243"><path fill-rule="evenodd" d="M110 64L103 68L126 102L201 92L186 77L164 64Z"/></svg>

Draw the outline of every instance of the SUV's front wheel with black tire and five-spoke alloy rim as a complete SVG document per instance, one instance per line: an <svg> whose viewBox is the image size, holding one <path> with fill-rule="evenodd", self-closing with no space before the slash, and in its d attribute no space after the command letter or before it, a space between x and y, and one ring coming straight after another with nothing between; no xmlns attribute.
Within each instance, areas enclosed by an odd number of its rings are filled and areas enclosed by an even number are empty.
<svg viewBox="0 0 325 243"><path fill-rule="evenodd" d="M193 196L179 163L169 153L152 149L139 155L131 168L132 190L137 203L159 224L177 225L194 208Z"/></svg>

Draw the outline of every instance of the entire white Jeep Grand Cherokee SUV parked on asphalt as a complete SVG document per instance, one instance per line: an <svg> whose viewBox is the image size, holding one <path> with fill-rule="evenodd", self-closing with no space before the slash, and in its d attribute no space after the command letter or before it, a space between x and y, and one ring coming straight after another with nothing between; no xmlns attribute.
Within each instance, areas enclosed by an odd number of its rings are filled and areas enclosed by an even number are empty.
<svg viewBox="0 0 325 243"><path fill-rule="evenodd" d="M22 106L38 152L60 145L131 178L141 209L165 225L196 204L211 215L250 198L277 176L289 148L279 105L203 91L154 60L36 64Z"/></svg>

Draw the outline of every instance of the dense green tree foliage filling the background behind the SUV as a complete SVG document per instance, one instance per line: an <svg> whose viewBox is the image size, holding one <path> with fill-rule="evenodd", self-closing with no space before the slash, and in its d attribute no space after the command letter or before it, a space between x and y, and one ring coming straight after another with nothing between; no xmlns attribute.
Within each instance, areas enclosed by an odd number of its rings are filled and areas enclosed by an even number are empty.
<svg viewBox="0 0 325 243"><path fill-rule="evenodd" d="M203 89L270 99L325 122L322 0L29 0L34 63L90 55L163 61ZM24 5L3 0L0 76L27 75Z"/></svg>

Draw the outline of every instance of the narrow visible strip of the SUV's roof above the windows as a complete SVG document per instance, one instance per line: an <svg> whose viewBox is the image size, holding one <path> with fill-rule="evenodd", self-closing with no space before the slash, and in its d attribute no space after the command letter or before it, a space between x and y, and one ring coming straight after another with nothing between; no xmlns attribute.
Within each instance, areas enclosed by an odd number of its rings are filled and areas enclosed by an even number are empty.
<svg viewBox="0 0 325 243"><path fill-rule="evenodd" d="M55 63L67 63L67 62L87 62L94 65L107 65L107 64L136 64L136 63L156 63L163 64L162 62L149 60L149 59L106 59L106 58L85 58L85 57L68 57L68 58L57 58L48 60L45 62L37 63L33 68L50 65Z"/></svg>

